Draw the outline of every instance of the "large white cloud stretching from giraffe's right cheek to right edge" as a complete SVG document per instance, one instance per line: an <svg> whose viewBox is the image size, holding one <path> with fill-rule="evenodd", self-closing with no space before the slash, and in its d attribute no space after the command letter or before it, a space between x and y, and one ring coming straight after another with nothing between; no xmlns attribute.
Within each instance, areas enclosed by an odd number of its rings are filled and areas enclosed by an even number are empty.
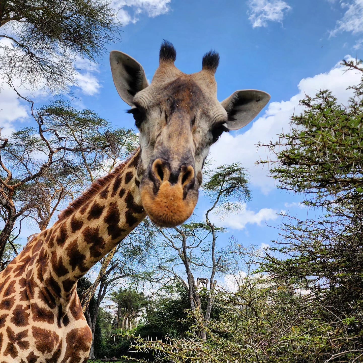
<svg viewBox="0 0 363 363"><path fill-rule="evenodd" d="M349 60L351 57L347 56L346 59ZM251 184L260 188L262 193L269 193L274 188L275 181L268 176L266 165L262 168L255 164L256 160L266 160L269 154L267 150L257 149L256 144L259 141L268 143L282 130L289 131L290 117L293 113L300 114L303 110L299 106L299 100L303 99L305 94L313 96L319 89L330 89L338 101L346 105L352 95L352 90L346 89L358 83L361 74L355 71L344 73L344 70L339 62L329 72L303 78L298 84L296 95L288 101L271 102L265 113L253 122L248 131L239 135L224 133L211 147L211 158L215 161L215 165L240 162L247 168Z"/></svg>

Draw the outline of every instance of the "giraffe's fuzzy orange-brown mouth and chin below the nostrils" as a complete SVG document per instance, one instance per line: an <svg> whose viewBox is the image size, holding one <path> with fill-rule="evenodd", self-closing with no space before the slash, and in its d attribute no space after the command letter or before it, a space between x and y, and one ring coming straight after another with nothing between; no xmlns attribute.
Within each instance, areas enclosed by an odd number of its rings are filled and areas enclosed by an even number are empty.
<svg viewBox="0 0 363 363"><path fill-rule="evenodd" d="M198 191L191 189L185 195L181 183L165 180L154 193L150 180L140 185L143 207L150 219L160 227L175 227L184 223L193 213Z"/></svg>

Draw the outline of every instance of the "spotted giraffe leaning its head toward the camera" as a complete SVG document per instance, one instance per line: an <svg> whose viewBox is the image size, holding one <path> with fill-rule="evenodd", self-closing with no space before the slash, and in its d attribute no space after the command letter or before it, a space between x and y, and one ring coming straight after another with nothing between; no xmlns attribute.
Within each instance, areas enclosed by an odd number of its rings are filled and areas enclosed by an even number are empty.
<svg viewBox="0 0 363 363"><path fill-rule="evenodd" d="M125 53L110 53L116 89L140 132L139 149L98 179L29 240L0 274L0 362L86 362L92 334L76 286L95 263L148 215L161 227L191 216L209 147L247 125L269 94L239 90L217 101L219 55L184 74L164 41L151 84Z"/></svg>

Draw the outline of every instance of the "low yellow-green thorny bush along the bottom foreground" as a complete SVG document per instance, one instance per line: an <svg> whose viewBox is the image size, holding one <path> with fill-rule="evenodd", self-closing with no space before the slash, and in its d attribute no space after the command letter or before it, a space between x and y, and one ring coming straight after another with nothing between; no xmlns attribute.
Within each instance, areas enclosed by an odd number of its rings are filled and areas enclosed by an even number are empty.
<svg viewBox="0 0 363 363"><path fill-rule="evenodd" d="M154 362L315 362L308 350L313 347L310 337L296 339L294 331L304 322L300 300L260 285L260 279L245 279L236 292L219 289L213 299L218 314L208 325L200 314L190 312L183 319L189 329L182 336L133 336L132 349L152 351ZM200 338L203 332L205 340ZM300 359L295 360L296 351Z"/></svg>

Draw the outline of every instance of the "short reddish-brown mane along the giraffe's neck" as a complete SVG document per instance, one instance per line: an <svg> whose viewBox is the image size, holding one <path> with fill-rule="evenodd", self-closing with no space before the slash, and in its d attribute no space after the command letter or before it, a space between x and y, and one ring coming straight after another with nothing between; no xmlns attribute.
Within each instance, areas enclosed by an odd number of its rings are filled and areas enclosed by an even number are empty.
<svg viewBox="0 0 363 363"><path fill-rule="evenodd" d="M87 201L94 197L96 193L101 191L103 187L108 185L110 181L115 178L115 176L117 176L119 173L122 172L123 169L125 169L126 165L135 156L138 150L133 152L131 156L129 156L129 158L127 158L125 161L114 167L109 174L96 179L85 192L83 192L79 197L70 202L68 207L58 215L58 221L62 221L72 215L75 211L77 211L78 208L82 207L82 205L86 204Z"/></svg>

